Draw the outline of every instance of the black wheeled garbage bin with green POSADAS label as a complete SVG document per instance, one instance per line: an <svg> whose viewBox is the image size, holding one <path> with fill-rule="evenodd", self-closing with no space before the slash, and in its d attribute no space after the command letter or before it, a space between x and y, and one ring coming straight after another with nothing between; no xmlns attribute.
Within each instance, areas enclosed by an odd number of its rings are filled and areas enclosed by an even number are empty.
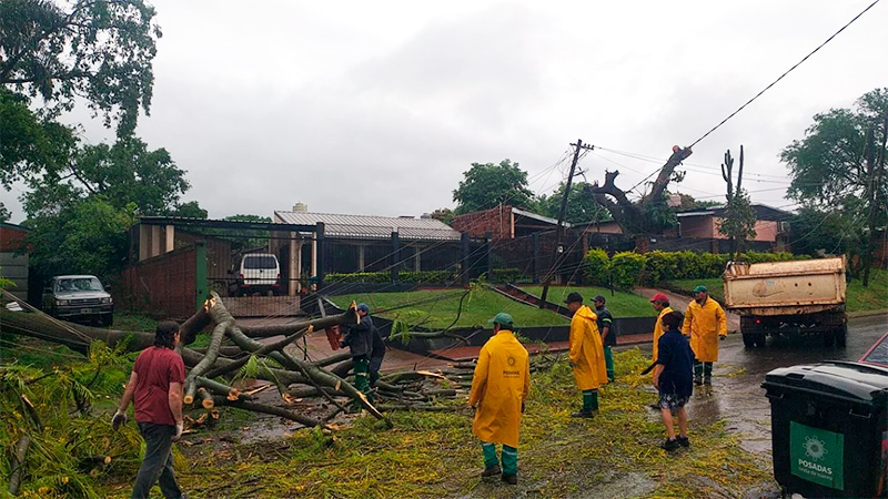
<svg viewBox="0 0 888 499"><path fill-rule="evenodd" d="M888 368L828 361L775 369L774 478L805 497L888 497Z"/></svg>

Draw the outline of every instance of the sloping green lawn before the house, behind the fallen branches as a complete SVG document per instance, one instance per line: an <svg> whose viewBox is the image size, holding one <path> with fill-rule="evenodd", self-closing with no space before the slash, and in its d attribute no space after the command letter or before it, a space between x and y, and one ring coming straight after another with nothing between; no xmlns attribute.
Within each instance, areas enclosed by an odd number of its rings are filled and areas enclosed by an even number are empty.
<svg viewBox="0 0 888 499"><path fill-rule="evenodd" d="M371 314L398 319L412 325L430 328L450 326L460 308L462 289L446 291L415 291L407 293L371 293L332 296L331 299L342 306L347 306L352 301L364 302L370 306ZM421 303L417 303L421 302ZM406 305L406 306L405 306ZM389 308L401 307L386 312ZM569 320L551 310L541 310L536 307L522 305L506 298L494 291L486 289L466 297L463 302L463 313L455 327L472 327L483 325L488 327L487 319L500 312L512 314L515 326L552 326L568 324Z"/></svg>

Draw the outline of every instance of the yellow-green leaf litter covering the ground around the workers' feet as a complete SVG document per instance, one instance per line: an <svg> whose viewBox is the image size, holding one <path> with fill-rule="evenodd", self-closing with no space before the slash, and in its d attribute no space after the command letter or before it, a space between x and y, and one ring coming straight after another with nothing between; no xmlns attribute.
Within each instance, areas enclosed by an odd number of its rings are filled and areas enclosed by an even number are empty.
<svg viewBox="0 0 888 499"><path fill-rule="evenodd" d="M646 408L656 395L650 376L638 374L647 363L638 349L615 353L617 380L603 387L602 411L593 420L569 417L581 400L565 359L534 374L517 487L478 478L481 446L465 398L443 403L454 411L392 413L392 429L365 416L344 429L300 429L283 441L222 451L214 438L201 444L209 435L189 437L198 445L185 448L189 466L176 475L193 498L604 497L628 476L642 477L643 490L633 493L640 497L738 497L773 485L770 462L743 450L724 421L699 426L692 419L692 447L660 450L663 424ZM107 497L128 497L130 482L104 485Z"/></svg>

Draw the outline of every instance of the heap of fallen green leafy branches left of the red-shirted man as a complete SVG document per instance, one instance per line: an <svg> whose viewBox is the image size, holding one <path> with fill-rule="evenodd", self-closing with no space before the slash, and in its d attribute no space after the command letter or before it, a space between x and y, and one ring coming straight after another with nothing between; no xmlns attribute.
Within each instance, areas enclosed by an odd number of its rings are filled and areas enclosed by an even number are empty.
<svg viewBox="0 0 888 499"><path fill-rule="evenodd" d="M20 497L105 497L100 482L133 477L142 451L134 425L111 429L111 398L119 397L130 358L122 346L94 342L85 358L56 352L54 365L29 365L18 355L29 348L4 348L13 355L0 365L0 489L7 490L13 449L28 435Z"/></svg>

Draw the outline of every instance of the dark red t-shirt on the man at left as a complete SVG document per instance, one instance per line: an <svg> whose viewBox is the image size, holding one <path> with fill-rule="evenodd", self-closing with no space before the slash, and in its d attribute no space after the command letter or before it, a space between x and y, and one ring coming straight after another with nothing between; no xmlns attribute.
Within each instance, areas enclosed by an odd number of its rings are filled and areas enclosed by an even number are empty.
<svg viewBox="0 0 888 499"><path fill-rule="evenodd" d="M135 420L175 425L170 410L170 384L185 380L185 363L170 348L149 347L139 354L132 367L135 381Z"/></svg>

